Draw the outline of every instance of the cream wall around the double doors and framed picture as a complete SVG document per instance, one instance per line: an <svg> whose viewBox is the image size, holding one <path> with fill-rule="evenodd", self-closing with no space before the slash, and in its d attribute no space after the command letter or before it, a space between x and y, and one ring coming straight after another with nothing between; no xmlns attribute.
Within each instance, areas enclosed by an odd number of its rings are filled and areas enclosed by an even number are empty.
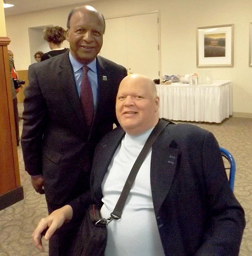
<svg viewBox="0 0 252 256"><path fill-rule="evenodd" d="M234 115L252 117L252 67L249 67L251 0L99 0L86 4L97 8L105 18L160 10L161 75L210 69L214 80L232 81ZM5 18L7 36L11 39L9 49L15 54L17 70L28 69L31 63L28 28L47 24L66 28L68 13L76 6ZM234 24L234 67L197 68L197 27L223 24Z"/></svg>

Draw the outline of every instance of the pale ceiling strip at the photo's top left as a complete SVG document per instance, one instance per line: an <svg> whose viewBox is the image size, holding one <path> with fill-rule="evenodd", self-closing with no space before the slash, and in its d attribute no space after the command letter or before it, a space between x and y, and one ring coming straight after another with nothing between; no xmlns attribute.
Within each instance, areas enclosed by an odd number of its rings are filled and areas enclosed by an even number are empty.
<svg viewBox="0 0 252 256"><path fill-rule="evenodd" d="M5 3L13 4L13 7L5 8L5 17L29 13L32 11L41 11L45 9L57 8L66 5L74 5L95 0L5 0Z"/></svg>

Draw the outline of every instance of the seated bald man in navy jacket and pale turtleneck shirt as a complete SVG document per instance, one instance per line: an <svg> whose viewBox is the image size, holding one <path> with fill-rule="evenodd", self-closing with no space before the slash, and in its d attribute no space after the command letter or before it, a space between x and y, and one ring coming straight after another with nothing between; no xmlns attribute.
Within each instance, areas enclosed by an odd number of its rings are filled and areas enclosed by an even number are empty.
<svg viewBox="0 0 252 256"><path fill-rule="evenodd" d="M97 145L91 174L91 194L105 218L159 121L158 108L151 79L131 74L122 80L116 99L121 127ZM47 227L46 240L84 214L90 203L85 198L39 222L33 234L37 248L43 250L41 233ZM213 134L191 124L169 124L139 169L121 219L108 224L105 256L238 256L244 226Z"/></svg>

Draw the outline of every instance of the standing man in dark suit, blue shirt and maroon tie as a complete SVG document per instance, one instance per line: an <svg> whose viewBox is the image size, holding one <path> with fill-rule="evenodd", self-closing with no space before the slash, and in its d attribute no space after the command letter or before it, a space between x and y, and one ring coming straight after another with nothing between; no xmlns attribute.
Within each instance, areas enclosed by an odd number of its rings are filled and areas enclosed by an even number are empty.
<svg viewBox="0 0 252 256"><path fill-rule="evenodd" d="M70 52L29 66L21 144L25 169L34 189L45 193L49 213L89 190L95 145L118 124L115 98L127 71L97 56L104 32L101 13L91 6L75 8L67 21ZM90 127L84 116L87 106L80 100L83 66L92 89Z"/></svg>

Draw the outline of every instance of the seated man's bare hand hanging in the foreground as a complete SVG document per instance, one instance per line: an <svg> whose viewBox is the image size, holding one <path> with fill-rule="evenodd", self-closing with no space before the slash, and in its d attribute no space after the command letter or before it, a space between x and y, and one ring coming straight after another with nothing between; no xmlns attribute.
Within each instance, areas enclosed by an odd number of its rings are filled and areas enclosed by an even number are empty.
<svg viewBox="0 0 252 256"><path fill-rule="evenodd" d="M45 251L42 245L42 233L45 232L45 240L49 240L54 232L60 228L65 222L72 219L73 209L70 205L61 207L53 211L49 216L41 219L32 234L33 241L40 251Z"/></svg>

